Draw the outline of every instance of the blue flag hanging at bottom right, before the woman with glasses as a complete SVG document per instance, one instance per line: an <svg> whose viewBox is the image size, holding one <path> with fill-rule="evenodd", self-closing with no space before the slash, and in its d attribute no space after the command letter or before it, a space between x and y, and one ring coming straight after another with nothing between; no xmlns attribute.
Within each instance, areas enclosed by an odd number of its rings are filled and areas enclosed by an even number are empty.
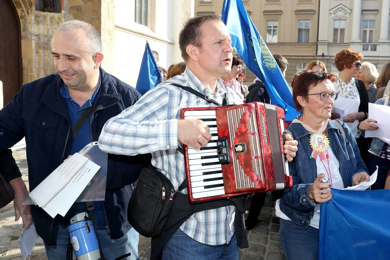
<svg viewBox="0 0 390 260"><path fill-rule="evenodd" d="M390 259L390 190L332 194L321 203L318 260Z"/></svg>

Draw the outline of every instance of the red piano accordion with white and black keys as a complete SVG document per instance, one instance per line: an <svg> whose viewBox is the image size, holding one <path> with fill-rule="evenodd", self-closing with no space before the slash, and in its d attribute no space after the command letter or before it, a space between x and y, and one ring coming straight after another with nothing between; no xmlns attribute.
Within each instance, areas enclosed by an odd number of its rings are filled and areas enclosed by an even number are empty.
<svg viewBox="0 0 390 260"><path fill-rule="evenodd" d="M204 121L212 135L200 150L184 145L190 202L291 188L280 107L252 102L184 108L180 118Z"/></svg>

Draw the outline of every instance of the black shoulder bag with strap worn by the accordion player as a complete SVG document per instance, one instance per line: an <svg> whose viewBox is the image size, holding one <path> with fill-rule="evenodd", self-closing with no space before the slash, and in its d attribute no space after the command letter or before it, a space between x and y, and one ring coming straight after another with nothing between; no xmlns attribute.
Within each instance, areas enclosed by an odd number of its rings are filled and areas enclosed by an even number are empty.
<svg viewBox="0 0 390 260"><path fill-rule="evenodd" d="M208 103L221 106L220 103L191 87L172 85L199 96ZM227 98L224 96L222 104L226 105L226 103ZM180 146L177 150L183 153L183 148ZM184 179L175 191L172 182L156 168L149 166L149 168L142 169L129 201L127 216L131 226L144 237L160 235L171 214L176 194L186 186L187 183Z"/></svg>

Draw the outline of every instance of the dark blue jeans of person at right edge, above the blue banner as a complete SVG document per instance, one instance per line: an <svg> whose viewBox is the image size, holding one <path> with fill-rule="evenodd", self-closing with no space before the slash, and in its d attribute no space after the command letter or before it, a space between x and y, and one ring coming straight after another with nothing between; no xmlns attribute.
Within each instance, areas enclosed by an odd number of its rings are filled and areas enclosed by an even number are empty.
<svg viewBox="0 0 390 260"><path fill-rule="evenodd" d="M370 160L368 163L368 170L370 175L376 171L376 166L378 166L378 177L376 178L376 182L372 184L371 189L383 190L385 188L387 174L390 170L390 160L381 158L374 154L370 154Z"/></svg>

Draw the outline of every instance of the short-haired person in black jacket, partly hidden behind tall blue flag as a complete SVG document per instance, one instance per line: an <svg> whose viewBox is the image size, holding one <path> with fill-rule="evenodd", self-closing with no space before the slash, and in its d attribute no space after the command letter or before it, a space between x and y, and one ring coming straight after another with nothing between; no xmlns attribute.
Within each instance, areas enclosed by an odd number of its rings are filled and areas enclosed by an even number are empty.
<svg viewBox="0 0 390 260"><path fill-rule="evenodd" d="M286 75L286 70L287 66L289 63L287 60L282 56L277 53L273 55L276 63L278 64L280 71L282 71L283 76ZM249 89L249 94L246 96L245 103L250 103L250 102L262 102L262 103L267 103L270 104L271 101L269 100L268 93L266 91L266 87L263 82L259 78L256 81L255 84L252 84L248 87ZM278 192L273 191L271 192L272 198L274 200L279 198ZM255 193L252 195L252 201L250 203L250 208L249 208L249 214L245 219L245 227L247 230L251 230L256 223L258 223L258 218L261 212L262 207L264 206L266 198L266 192L259 192Z"/></svg>

